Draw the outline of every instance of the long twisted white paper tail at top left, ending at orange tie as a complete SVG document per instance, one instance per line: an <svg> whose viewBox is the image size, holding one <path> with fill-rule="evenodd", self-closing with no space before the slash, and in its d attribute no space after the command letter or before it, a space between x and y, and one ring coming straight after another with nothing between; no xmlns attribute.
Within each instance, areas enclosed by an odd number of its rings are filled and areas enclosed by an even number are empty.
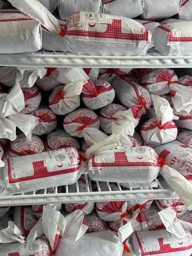
<svg viewBox="0 0 192 256"><path fill-rule="evenodd" d="M60 34L61 28L59 21L55 16L37 0L8 0L12 6L20 10L22 13L38 20L41 25L52 33Z"/></svg>

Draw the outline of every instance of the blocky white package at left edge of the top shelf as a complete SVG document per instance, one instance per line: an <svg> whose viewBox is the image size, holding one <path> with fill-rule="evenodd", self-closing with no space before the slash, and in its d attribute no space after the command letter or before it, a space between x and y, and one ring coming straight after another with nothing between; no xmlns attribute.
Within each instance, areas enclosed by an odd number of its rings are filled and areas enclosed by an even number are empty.
<svg viewBox="0 0 192 256"><path fill-rule="evenodd" d="M0 21L0 53L36 52L41 49L42 31L38 20L22 13L0 13Z"/></svg>

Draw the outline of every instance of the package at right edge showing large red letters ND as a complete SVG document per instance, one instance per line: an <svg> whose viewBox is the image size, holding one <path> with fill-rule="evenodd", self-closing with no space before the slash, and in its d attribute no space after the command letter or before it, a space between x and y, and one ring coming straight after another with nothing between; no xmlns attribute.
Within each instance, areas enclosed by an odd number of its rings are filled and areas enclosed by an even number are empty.
<svg viewBox="0 0 192 256"><path fill-rule="evenodd" d="M174 140L157 146L154 149L160 158L166 159L165 164L175 168L175 170L180 172L187 180L192 179L192 148L180 141Z"/></svg>

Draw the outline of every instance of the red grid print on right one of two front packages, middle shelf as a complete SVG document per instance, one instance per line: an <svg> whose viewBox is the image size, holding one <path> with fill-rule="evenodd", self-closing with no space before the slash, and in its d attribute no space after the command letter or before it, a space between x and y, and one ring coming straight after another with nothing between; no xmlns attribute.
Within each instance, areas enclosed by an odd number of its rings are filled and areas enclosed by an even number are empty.
<svg viewBox="0 0 192 256"><path fill-rule="evenodd" d="M92 156L92 166L160 166L160 160L157 154L154 154L153 158L149 158L148 162L128 162L125 152L114 152L114 155L114 163L95 163L95 157Z"/></svg>

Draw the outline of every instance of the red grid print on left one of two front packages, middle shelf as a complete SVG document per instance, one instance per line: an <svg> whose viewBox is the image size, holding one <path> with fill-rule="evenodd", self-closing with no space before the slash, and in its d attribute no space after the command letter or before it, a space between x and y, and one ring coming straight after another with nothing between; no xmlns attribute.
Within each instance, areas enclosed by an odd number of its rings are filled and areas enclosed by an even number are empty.
<svg viewBox="0 0 192 256"><path fill-rule="evenodd" d="M10 159L7 159L8 163L8 177L9 177L9 183L16 183L20 181L26 181L26 180L35 180L35 179L41 179L41 178L46 178L46 177L52 177L60 174L66 174L70 172L76 172L79 170L79 165L77 165L74 168L70 169L63 169L63 170L58 170L54 172L48 172L47 167L44 166L44 161L37 161L33 163L33 169L34 169L34 174L31 176L26 176L22 178L17 178L17 179L12 179L12 173L11 173L11 163Z"/></svg>

